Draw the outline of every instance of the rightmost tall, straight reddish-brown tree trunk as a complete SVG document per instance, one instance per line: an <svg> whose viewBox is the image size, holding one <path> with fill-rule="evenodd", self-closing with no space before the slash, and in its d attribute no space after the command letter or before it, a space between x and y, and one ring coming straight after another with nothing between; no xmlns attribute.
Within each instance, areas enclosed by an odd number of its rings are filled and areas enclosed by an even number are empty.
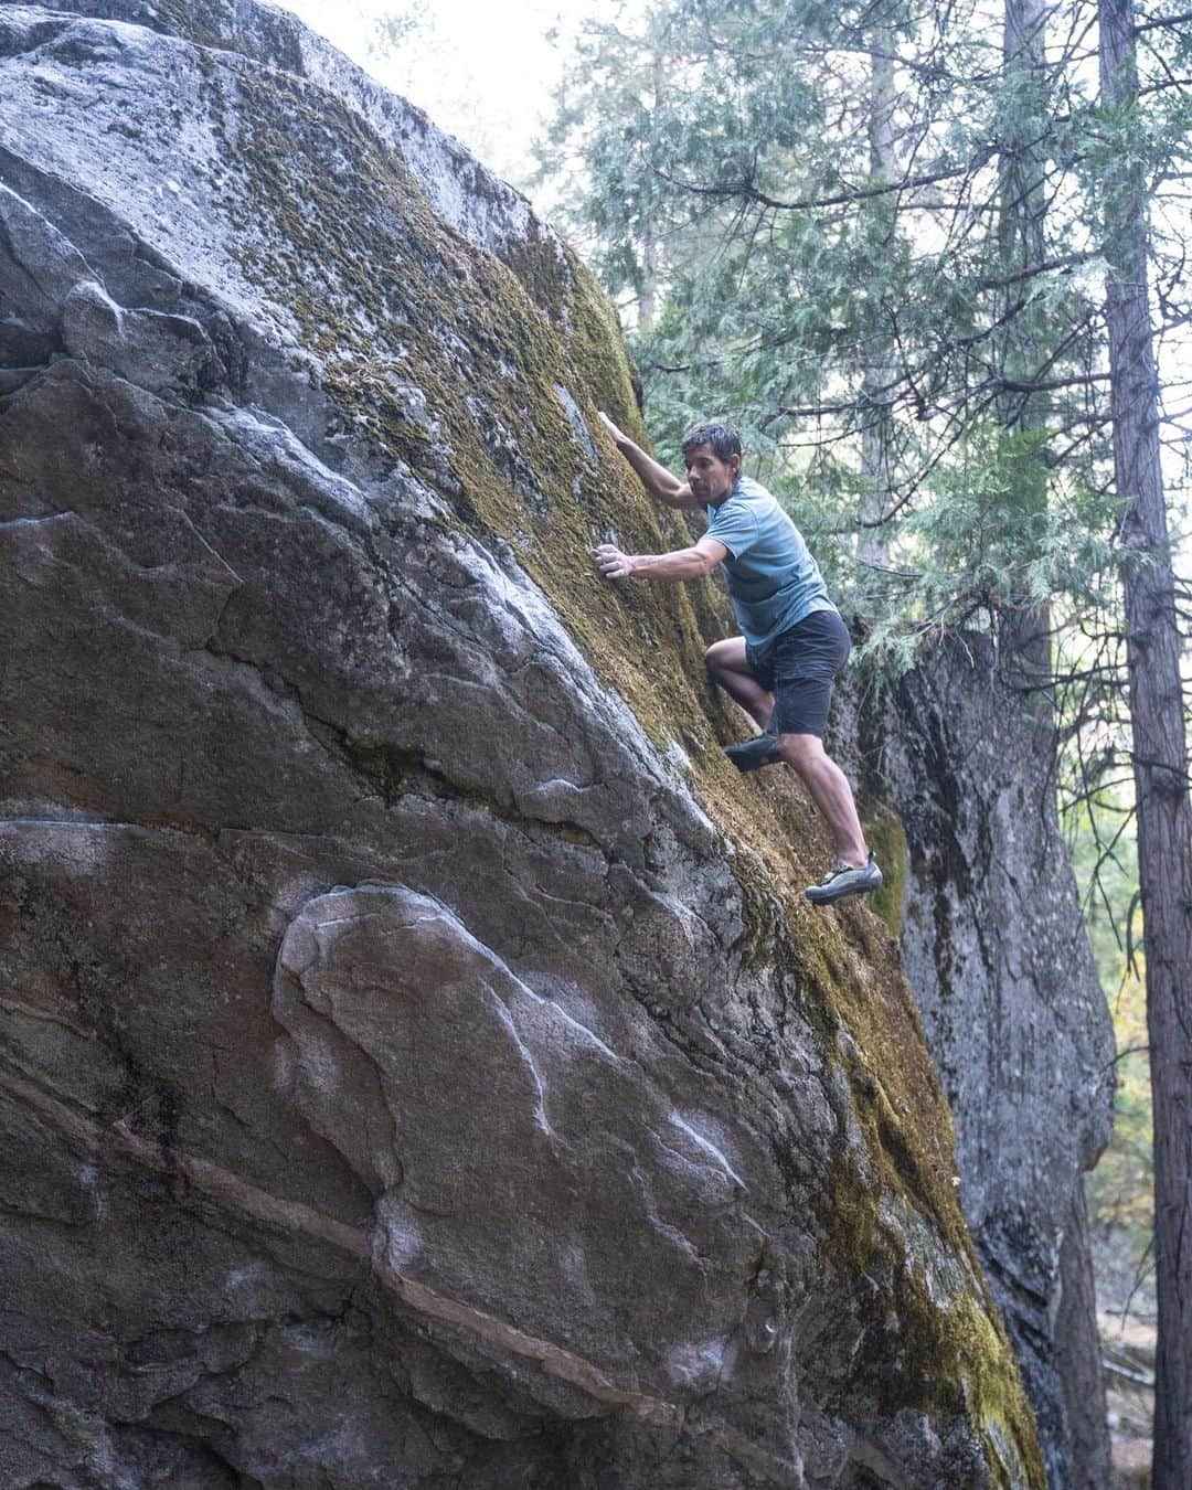
<svg viewBox="0 0 1192 1490"><path fill-rule="evenodd" d="M1101 100L1135 106L1132 0L1101 0ZM1122 538L1144 557L1125 574L1138 879L1155 1101L1155 1490L1192 1484L1192 805L1188 796L1180 635L1159 466L1158 377L1147 304L1147 201L1141 164L1113 153L1104 186L1106 314L1113 466L1128 499Z"/></svg>

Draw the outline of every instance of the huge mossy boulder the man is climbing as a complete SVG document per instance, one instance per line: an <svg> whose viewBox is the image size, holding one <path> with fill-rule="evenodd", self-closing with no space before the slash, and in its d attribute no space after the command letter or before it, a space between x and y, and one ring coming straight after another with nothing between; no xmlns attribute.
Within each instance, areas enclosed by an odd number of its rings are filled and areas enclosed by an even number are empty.
<svg viewBox="0 0 1192 1490"><path fill-rule="evenodd" d="M590 276L276 12L6 9L19 1472L1042 1484Z"/></svg>

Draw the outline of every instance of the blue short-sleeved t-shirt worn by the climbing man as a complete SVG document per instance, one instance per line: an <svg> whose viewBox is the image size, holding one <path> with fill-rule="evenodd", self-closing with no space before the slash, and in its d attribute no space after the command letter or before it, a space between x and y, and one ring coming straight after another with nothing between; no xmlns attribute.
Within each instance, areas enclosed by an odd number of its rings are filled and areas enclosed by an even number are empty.
<svg viewBox="0 0 1192 1490"><path fill-rule="evenodd" d="M706 511L708 536L729 550L720 568L746 642L760 647L812 611L836 609L803 535L764 486L739 475Z"/></svg>

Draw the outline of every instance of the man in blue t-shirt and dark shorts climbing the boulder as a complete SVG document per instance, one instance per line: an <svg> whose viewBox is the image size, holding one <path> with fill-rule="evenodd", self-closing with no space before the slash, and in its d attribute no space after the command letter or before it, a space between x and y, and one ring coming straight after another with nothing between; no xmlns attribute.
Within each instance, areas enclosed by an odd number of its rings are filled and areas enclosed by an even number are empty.
<svg viewBox="0 0 1192 1490"><path fill-rule="evenodd" d="M869 894L882 884L852 788L824 751L831 681L852 641L828 599L803 536L773 496L741 472L741 440L721 423L696 425L682 438L687 481L651 459L600 414L642 486L666 507L703 508L708 532L690 548L626 554L614 544L593 550L608 580L699 580L720 565L744 636L714 642L708 670L761 733L730 745L738 770L785 761L799 773L834 840L837 863L806 895L815 904Z"/></svg>

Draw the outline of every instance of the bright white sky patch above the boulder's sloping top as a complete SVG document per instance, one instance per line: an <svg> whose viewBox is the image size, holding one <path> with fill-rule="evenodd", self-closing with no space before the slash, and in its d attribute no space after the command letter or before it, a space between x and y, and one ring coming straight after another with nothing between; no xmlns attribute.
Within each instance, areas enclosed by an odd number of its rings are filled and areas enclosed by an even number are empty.
<svg viewBox="0 0 1192 1490"><path fill-rule="evenodd" d="M584 18L617 0L279 0L386 88L425 109L498 176L523 186L530 142L551 112L551 89ZM577 10L581 12L577 15ZM413 28L381 51L386 16ZM559 33L557 45L547 31Z"/></svg>

